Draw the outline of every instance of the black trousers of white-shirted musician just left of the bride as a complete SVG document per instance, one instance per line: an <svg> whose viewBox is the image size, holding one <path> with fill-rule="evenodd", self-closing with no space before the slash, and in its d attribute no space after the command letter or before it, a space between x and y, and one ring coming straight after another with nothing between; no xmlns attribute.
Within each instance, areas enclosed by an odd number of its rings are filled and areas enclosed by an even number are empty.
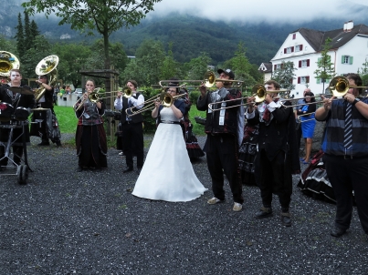
<svg viewBox="0 0 368 275"><path fill-rule="evenodd" d="M125 155L127 167L133 167L133 152L137 154L137 168L143 167L144 140L142 122L124 123L121 125L122 151ZM134 148L132 148L134 145Z"/></svg>

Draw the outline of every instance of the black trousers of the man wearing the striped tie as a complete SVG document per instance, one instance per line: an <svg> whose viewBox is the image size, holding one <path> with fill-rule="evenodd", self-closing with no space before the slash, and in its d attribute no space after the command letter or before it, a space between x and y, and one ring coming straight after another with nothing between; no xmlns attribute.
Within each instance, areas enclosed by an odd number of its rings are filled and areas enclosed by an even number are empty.
<svg viewBox="0 0 368 275"><path fill-rule="evenodd" d="M352 190L363 230L368 234L368 156L343 159L324 155L327 176L336 198L335 224L349 229L352 220Z"/></svg>

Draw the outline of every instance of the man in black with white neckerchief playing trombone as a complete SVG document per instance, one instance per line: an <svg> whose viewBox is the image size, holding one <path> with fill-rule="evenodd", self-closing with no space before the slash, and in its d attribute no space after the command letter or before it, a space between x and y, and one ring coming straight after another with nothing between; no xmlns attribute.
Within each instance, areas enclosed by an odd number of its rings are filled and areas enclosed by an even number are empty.
<svg viewBox="0 0 368 275"><path fill-rule="evenodd" d="M272 215L272 193L279 196L281 223L291 226L289 204L292 193L292 173L300 173L295 118L292 108L280 104L279 83L268 80L266 97L258 108L255 97L247 98L247 123L259 126L258 153L255 160L256 181L260 188L263 207L256 219ZM290 102L285 102L285 106ZM293 165L293 167L291 166Z"/></svg>

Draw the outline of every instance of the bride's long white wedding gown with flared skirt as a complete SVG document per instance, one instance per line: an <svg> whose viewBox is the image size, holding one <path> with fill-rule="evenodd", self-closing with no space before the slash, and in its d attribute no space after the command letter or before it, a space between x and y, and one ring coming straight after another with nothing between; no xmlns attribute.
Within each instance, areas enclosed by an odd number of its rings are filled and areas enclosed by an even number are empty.
<svg viewBox="0 0 368 275"><path fill-rule="evenodd" d="M171 107L161 119L178 121ZM179 124L160 123L132 194L144 199L189 201L207 190L196 178Z"/></svg>

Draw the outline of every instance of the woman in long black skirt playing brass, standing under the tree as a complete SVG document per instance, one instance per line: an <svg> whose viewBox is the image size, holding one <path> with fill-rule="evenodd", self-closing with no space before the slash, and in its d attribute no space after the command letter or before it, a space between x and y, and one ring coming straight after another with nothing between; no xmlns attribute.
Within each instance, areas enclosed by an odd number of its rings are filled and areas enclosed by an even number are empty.
<svg viewBox="0 0 368 275"><path fill-rule="evenodd" d="M86 92L75 105L78 118L76 132L76 148L79 158L78 171L85 168L107 168L107 140L102 116L105 104L102 101L92 102L89 94L95 89L95 81L88 79Z"/></svg>

